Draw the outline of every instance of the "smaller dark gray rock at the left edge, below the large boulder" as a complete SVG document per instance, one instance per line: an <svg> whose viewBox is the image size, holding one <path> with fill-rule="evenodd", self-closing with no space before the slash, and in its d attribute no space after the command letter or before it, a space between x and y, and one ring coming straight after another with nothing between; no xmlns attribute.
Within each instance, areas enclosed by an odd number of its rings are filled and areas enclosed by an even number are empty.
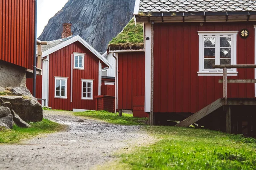
<svg viewBox="0 0 256 170"><path fill-rule="evenodd" d="M7 129L12 129L12 113L7 107L0 107L0 127L6 127Z"/></svg>

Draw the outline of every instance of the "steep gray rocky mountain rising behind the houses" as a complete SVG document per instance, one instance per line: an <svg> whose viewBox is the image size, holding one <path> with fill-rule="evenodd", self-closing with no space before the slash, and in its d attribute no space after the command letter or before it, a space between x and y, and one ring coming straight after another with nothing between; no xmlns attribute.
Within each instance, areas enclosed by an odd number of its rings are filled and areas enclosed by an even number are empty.
<svg viewBox="0 0 256 170"><path fill-rule="evenodd" d="M39 40L61 39L62 24L71 23L73 36L79 35L99 52L122 31L133 17L135 0L69 0L52 17Z"/></svg>

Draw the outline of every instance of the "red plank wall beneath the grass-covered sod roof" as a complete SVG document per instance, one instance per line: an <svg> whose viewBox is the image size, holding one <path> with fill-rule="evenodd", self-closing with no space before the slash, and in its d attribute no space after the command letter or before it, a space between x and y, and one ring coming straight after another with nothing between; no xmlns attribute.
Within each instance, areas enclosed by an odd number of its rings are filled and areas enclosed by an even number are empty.
<svg viewBox="0 0 256 170"><path fill-rule="evenodd" d="M133 97L145 93L145 54L118 54L118 109L133 109Z"/></svg>

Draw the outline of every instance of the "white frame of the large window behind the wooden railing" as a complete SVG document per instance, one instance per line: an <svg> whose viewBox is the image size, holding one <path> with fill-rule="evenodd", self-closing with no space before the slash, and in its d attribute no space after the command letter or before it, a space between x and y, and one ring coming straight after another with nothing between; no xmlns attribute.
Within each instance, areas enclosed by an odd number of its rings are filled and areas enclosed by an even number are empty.
<svg viewBox="0 0 256 170"><path fill-rule="evenodd" d="M219 64L219 37L231 37L231 64L236 64L237 34L239 31L198 31L199 35L199 71L198 76L222 76L223 69L204 68L204 37L216 37L215 41L215 64ZM216 63L217 62L217 63ZM228 76L237 76L236 68L227 69Z"/></svg>

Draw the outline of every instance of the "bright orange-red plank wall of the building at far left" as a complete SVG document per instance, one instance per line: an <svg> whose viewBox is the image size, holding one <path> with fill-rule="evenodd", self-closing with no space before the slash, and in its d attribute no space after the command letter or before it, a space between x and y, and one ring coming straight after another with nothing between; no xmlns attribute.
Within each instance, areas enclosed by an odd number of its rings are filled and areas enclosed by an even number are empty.
<svg viewBox="0 0 256 170"><path fill-rule="evenodd" d="M34 1L1 0L0 59L32 69Z"/></svg>

